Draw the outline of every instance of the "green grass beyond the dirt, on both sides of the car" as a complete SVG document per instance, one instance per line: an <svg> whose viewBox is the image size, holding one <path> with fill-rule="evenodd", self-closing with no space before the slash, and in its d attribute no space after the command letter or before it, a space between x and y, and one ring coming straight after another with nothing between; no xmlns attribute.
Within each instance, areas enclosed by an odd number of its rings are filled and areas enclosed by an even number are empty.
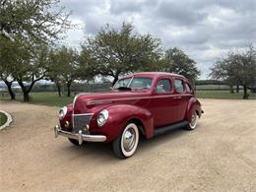
<svg viewBox="0 0 256 192"><path fill-rule="evenodd" d="M198 98L229 98L229 99L241 99L242 92L239 94L230 94L228 91L197 91L196 96ZM74 96L58 96L57 93L32 93L33 104L43 104L50 106L64 106L67 103L73 101ZM9 99L8 96L0 97L0 99ZM251 94L249 99L256 99L256 94ZM17 96L18 101L22 101L22 96Z"/></svg>

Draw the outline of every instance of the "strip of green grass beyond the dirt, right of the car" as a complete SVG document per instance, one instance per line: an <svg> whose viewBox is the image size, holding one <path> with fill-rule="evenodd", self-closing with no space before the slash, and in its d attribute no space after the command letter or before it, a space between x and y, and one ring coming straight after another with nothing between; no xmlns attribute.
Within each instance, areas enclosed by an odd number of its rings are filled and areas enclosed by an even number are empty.
<svg viewBox="0 0 256 192"><path fill-rule="evenodd" d="M249 99L256 99L256 94L249 93ZM199 98L229 98L242 99L243 92L238 94L230 94L229 91L196 91L196 96Z"/></svg>

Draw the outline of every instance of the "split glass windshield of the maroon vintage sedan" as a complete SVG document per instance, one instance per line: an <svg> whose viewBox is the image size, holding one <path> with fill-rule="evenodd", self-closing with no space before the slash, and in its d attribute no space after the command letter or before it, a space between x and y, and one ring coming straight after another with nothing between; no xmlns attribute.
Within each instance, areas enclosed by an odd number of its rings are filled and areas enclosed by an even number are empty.
<svg viewBox="0 0 256 192"><path fill-rule="evenodd" d="M151 89L153 79L144 77L120 79L114 85L113 89L130 88L130 89Z"/></svg>

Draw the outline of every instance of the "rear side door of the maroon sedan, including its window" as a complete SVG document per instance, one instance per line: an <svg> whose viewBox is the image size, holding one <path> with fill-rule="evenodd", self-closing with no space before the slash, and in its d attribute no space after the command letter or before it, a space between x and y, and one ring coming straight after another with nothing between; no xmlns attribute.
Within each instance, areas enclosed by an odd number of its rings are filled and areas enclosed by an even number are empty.
<svg viewBox="0 0 256 192"><path fill-rule="evenodd" d="M189 98L191 97L190 94L186 93L185 82L181 78L174 78L174 96L173 99L176 103L176 121L184 120L187 104Z"/></svg>

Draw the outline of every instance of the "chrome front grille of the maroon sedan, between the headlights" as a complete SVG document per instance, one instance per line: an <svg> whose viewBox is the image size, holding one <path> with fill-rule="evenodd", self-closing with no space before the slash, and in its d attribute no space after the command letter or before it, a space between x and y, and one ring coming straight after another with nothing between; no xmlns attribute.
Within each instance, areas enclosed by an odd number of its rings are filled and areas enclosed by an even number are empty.
<svg viewBox="0 0 256 192"><path fill-rule="evenodd" d="M93 114L73 114L73 130L75 133L82 130L85 132L85 127L89 125Z"/></svg>

